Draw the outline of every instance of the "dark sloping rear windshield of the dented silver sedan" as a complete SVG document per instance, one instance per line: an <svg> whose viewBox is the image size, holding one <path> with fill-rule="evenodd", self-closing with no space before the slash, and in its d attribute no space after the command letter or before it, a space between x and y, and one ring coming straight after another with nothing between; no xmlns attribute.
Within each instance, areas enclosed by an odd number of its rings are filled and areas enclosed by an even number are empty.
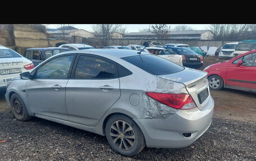
<svg viewBox="0 0 256 161"><path fill-rule="evenodd" d="M152 75L168 75L184 70L184 67L154 55L131 56L122 59Z"/></svg>

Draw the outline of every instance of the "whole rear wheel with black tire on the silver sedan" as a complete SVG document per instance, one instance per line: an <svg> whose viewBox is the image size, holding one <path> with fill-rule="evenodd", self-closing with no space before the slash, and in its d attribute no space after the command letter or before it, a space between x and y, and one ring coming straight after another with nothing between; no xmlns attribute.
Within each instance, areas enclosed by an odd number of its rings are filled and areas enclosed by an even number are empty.
<svg viewBox="0 0 256 161"><path fill-rule="evenodd" d="M123 122L125 122L125 126L122 126L124 125L122 124ZM118 126L118 128L116 126L117 124L121 126ZM118 133L113 130L114 127L117 127L121 132ZM130 117L123 114L115 114L108 119L106 124L106 137L109 145L116 153L128 157L138 154L145 147L144 135L139 126ZM134 139L132 139L133 137ZM114 143L114 141L116 142Z"/></svg>

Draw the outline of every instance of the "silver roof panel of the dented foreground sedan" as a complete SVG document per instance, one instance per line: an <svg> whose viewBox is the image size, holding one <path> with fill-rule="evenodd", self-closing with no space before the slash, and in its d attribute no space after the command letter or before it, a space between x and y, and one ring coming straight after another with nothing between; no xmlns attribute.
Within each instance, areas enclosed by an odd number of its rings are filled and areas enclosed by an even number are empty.
<svg viewBox="0 0 256 161"><path fill-rule="evenodd" d="M146 52L141 52L140 54L138 50L117 50L117 49L86 49L86 50L70 50L68 52L62 52L55 54L54 56L59 56L61 54L69 54L69 53L84 53L84 54L95 54L98 56L111 56L116 58L129 57L129 56L138 56L149 54Z"/></svg>

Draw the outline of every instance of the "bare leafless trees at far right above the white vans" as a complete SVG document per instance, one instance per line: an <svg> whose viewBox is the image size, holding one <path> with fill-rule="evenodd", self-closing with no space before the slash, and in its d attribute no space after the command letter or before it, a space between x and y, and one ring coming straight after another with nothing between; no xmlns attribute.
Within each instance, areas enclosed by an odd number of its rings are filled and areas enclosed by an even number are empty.
<svg viewBox="0 0 256 161"><path fill-rule="evenodd" d="M213 40L243 40L255 38L255 24L209 24Z"/></svg>

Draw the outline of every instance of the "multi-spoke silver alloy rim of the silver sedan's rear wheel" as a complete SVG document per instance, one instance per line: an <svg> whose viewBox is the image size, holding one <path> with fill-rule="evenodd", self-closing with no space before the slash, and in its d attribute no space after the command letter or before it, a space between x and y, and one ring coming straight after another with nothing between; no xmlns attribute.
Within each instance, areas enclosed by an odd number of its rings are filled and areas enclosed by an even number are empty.
<svg viewBox="0 0 256 161"><path fill-rule="evenodd" d="M113 143L122 150L130 150L135 145L135 133L125 121L118 120L111 125L110 136Z"/></svg>

